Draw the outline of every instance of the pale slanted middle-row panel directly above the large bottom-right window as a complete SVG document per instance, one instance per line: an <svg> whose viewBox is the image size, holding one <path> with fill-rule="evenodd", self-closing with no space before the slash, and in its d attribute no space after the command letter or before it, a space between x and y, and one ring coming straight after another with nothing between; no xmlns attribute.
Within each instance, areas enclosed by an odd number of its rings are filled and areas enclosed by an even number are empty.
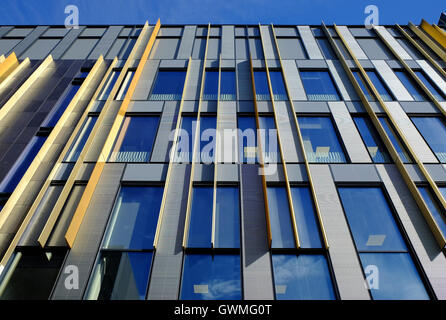
<svg viewBox="0 0 446 320"><path fill-rule="evenodd" d="M328 106L333 114L350 160L359 163L372 162L345 103L343 101L330 101Z"/></svg>

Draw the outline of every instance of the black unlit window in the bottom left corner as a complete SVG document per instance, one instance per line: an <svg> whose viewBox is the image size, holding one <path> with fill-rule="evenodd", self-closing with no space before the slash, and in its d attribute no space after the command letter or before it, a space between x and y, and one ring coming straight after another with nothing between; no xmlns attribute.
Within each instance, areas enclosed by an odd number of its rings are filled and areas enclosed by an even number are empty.
<svg viewBox="0 0 446 320"><path fill-rule="evenodd" d="M65 251L18 251L3 273L0 300L47 300L65 258Z"/></svg>

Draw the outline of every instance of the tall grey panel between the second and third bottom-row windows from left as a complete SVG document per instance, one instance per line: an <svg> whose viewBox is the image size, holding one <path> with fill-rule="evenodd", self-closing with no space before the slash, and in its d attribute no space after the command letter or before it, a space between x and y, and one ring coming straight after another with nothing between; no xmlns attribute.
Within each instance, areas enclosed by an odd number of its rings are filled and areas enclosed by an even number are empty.
<svg viewBox="0 0 446 320"><path fill-rule="evenodd" d="M182 241L191 166L186 164L171 164L171 166L171 178L165 191L166 206L149 283L149 300L176 300L180 291Z"/></svg>

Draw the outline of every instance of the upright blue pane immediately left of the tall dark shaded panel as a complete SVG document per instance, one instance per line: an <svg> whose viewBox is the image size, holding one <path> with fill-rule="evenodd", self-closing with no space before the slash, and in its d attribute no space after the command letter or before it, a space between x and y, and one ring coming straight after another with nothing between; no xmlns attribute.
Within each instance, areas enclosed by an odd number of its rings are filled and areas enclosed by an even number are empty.
<svg viewBox="0 0 446 320"><path fill-rule="evenodd" d="M240 201L237 187L218 187L215 247L240 248Z"/></svg>

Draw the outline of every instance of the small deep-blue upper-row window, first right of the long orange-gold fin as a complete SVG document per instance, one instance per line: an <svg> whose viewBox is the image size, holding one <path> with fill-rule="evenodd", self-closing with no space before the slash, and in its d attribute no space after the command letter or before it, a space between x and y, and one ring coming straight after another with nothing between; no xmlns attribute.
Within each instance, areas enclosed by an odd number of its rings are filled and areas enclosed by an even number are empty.
<svg viewBox="0 0 446 320"><path fill-rule="evenodd" d="M181 100L186 71L160 70L149 100Z"/></svg>

